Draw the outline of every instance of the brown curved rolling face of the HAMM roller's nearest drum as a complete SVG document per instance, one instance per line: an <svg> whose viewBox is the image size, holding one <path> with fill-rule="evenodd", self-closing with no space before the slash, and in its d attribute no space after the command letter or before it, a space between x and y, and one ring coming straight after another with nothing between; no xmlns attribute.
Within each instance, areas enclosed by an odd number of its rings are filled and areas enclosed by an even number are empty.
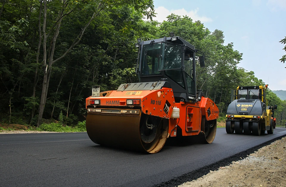
<svg viewBox="0 0 286 187"><path fill-rule="evenodd" d="M96 144L146 152L139 134L140 115L88 114L86 131Z"/></svg>

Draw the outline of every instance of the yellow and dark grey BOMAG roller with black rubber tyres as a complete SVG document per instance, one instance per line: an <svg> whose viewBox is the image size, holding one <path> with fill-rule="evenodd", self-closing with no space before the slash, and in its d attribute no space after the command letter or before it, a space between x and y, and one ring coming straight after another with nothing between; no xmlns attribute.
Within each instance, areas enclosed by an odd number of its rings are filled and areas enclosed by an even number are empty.
<svg viewBox="0 0 286 187"><path fill-rule="evenodd" d="M236 99L229 104L226 112L227 133L259 136L267 130L268 134L273 134L271 116L277 105L267 107L266 89L267 85L237 87Z"/></svg>

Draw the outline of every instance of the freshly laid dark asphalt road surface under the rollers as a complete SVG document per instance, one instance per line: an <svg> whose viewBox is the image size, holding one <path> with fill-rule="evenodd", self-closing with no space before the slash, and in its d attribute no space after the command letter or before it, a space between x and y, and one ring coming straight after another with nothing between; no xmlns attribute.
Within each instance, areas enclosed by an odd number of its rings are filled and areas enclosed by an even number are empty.
<svg viewBox="0 0 286 187"><path fill-rule="evenodd" d="M0 186L154 186L286 135L226 134L212 144L167 141L156 154L94 144L87 133L0 134Z"/></svg>

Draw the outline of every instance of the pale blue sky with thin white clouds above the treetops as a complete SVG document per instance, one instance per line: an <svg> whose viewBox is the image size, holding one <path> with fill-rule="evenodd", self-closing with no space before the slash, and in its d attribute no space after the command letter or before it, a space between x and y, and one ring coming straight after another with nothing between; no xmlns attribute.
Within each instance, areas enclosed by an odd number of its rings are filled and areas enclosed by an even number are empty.
<svg viewBox="0 0 286 187"><path fill-rule="evenodd" d="M154 0L159 22L188 15L211 32L223 31L225 43L243 53L239 67L254 71L271 90L286 90L286 63L280 62L286 36L286 0ZM171 32L171 31L170 31ZM176 33L175 33L176 34Z"/></svg>

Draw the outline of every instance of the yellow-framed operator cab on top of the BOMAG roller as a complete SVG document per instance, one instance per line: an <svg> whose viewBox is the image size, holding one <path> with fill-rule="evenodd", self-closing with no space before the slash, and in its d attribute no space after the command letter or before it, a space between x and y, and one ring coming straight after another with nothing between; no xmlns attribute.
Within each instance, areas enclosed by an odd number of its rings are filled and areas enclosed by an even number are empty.
<svg viewBox="0 0 286 187"><path fill-rule="evenodd" d="M260 99L265 103L264 86L239 86L237 87L237 99Z"/></svg>

